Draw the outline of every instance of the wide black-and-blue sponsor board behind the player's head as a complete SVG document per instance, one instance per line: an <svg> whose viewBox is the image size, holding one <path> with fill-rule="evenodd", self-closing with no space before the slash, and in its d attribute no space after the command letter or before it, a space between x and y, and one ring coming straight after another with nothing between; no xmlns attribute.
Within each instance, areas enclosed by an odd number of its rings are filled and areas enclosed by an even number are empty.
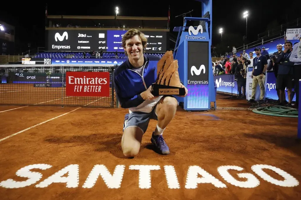
<svg viewBox="0 0 301 200"><path fill-rule="evenodd" d="M123 30L48 30L48 51L124 52ZM167 32L143 31L147 37L146 52L166 52Z"/></svg>

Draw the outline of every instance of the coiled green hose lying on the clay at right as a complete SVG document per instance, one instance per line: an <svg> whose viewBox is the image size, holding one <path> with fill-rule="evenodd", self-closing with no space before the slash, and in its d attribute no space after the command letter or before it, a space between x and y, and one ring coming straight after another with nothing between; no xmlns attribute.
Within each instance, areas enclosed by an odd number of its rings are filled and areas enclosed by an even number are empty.
<svg viewBox="0 0 301 200"><path fill-rule="evenodd" d="M298 111L296 109L285 106L265 106L253 109L253 112L261 115L298 118Z"/></svg>

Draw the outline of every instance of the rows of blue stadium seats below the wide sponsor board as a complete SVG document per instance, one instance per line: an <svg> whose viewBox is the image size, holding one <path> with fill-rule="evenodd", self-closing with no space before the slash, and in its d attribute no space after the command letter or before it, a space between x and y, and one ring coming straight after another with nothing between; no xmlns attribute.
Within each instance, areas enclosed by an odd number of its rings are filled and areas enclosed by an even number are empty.
<svg viewBox="0 0 301 200"><path fill-rule="evenodd" d="M147 55L157 55L162 57L163 53L146 53ZM35 58L84 58L82 52L42 52L35 55ZM95 58L86 52L86 58ZM101 56L103 59L126 59L127 56L123 52L118 52L118 56L115 56L115 52L103 52Z"/></svg>

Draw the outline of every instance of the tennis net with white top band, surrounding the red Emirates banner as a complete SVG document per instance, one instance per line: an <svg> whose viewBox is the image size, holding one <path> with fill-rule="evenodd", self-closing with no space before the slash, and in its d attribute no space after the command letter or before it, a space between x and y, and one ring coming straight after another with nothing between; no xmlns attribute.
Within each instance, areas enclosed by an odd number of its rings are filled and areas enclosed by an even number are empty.
<svg viewBox="0 0 301 200"><path fill-rule="evenodd" d="M115 107L113 65L0 65L0 105ZM109 97L66 96L66 72L109 72Z"/></svg>

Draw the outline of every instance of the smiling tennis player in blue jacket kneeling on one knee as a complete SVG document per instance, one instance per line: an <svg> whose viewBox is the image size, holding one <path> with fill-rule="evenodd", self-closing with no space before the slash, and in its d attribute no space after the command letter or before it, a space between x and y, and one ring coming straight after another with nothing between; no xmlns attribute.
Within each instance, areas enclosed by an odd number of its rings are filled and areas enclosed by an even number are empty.
<svg viewBox="0 0 301 200"><path fill-rule="evenodd" d="M157 120L151 142L157 153L167 155L169 148L163 139L163 131L175 116L177 100L172 96L154 97L151 84L156 82L157 62L160 57L144 55L147 38L137 30L124 34L122 46L128 59L113 72L113 84L117 100L122 108L129 108L123 124L122 151L126 157L135 157L140 150L142 136L151 119ZM181 87L185 86L181 83ZM188 90L185 88L185 95Z"/></svg>

